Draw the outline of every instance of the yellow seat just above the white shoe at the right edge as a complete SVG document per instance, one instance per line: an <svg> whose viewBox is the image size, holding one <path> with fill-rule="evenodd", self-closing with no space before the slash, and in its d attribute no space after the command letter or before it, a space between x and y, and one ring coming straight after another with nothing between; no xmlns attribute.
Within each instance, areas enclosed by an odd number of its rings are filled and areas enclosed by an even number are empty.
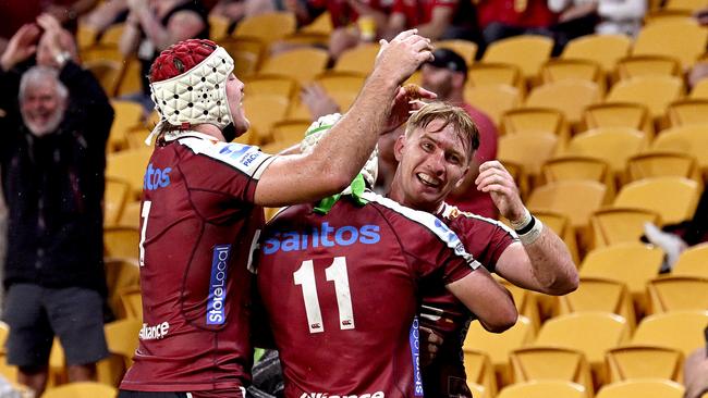
<svg viewBox="0 0 708 398"><path fill-rule="evenodd" d="M656 211L664 224L689 220L698 204L699 186L683 177L654 177L635 181L620 189L613 207Z"/></svg>

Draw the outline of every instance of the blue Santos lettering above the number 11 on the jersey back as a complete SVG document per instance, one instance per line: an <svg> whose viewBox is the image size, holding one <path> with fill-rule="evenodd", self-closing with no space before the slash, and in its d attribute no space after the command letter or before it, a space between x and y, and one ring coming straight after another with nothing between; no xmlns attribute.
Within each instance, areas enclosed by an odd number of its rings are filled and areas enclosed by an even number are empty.
<svg viewBox="0 0 708 398"><path fill-rule="evenodd" d="M297 251L308 247L351 246L357 241L364 245L374 245L379 240L381 240L381 236L378 225L363 225L358 229L355 226L345 225L335 229L329 226L329 223L322 223L321 228L313 228L312 234L277 233L266 240L263 252L272 254L278 250Z"/></svg>

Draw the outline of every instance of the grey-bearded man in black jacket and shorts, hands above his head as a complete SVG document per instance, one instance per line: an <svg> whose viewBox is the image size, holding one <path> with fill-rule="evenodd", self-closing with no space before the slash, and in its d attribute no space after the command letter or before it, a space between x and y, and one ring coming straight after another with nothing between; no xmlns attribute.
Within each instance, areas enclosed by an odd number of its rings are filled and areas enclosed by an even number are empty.
<svg viewBox="0 0 708 398"><path fill-rule="evenodd" d="M57 335L72 382L95 378L103 337L102 211L113 110L49 15L24 25L0 58L0 169L9 209L4 320L8 362L40 396ZM37 53L21 76L15 66Z"/></svg>

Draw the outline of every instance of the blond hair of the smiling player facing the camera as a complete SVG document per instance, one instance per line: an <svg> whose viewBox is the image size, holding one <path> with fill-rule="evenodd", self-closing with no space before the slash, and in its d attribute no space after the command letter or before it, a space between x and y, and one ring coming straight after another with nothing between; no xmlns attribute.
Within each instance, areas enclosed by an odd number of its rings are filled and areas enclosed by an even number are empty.
<svg viewBox="0 0 708 398"><path fill-rule="evenodd" d="M449 125L452 126L462 142L467 142L464 151L467 154L467 161L472 161L474 152L479 149L479 129L469 114L460 107L441 101L426 103L408 119L405 136L410 137L417 128L425 129L430 123L438 120L443 124L436 133Z"/></svg>

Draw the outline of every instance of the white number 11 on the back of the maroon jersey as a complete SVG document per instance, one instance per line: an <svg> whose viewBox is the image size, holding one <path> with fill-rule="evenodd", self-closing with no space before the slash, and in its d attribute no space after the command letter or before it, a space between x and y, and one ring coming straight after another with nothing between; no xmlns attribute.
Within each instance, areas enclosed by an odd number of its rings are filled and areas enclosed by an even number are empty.
<svg viewBox="0 0 708 398"><path fill-rule="evenodd" d="M339 327L343 331L354 328L354 311L352 309L352 294L346 273L346 259L335 257L332 265L325 270L325 276L327 281L334 283L334 294L337 295L337 307L339 309ZM305 302L309 333L325 332L322 311L317 296L313 260L303 261L300 269L293 273L293 279L295 285L303 287L303 300Z"/></svg>

